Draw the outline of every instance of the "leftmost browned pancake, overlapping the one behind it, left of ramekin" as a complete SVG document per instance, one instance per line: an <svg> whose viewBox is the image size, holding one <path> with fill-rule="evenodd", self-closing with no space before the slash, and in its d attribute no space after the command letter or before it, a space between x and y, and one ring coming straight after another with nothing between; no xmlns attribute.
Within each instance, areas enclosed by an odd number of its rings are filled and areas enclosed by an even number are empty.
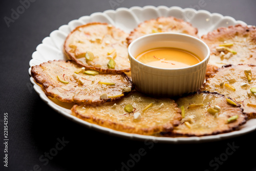
<svg viewBox="0 0 256 171"><path fill-rule="evenodd" d="M131 80L125 74L84 74L82 67L72 61L41 63L32 67L31 75L47 96L61 102L100 104L130 93L123 92L123 88L133 89Z"/></svg>

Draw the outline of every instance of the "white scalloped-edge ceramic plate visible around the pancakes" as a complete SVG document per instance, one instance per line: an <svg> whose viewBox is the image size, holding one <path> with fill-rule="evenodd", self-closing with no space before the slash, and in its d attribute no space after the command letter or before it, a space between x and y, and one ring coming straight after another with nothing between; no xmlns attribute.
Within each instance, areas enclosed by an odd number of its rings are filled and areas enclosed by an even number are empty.
<svg viewBox="0 0 256 171"><path fill-rule="evenodd" d="M49 37L46 37L42 40L42 44L36 47L36 51L32 54L32 59L29 62L30 67L39 65L42 62L49 60L59 60L67 59L63 54L63 43L67 35L75 29L77 26L84 25L90 22L102 22L109 23L121 30L124 30L127 33L130 33L137 25L144 20L157 18L159 16L175 16L177 18L182 18L183 20L190 22L194 27L198 28L198 35L202 36L209 31L217 29L218 27L227 27L230 25L236 24L245 24L242 21L235 20L229 16L223 16L218 13L209 13L208 11L199 10L196 11L191 8L181 9L180 7L153 7L145 6L141 7L132 7L119 8L117 10L107 10L104 12L96 12L90 16L82 16L79 19L72 20L68 25L63 25L59 27L58 30L54 30ZM245 24L246 25L246 24ZM29 74L31 75L31 68L29 69ZM158 142L168 142L168 143L186 143L186 142L204 142L204 141L214 141L221 140L225 138L235 137L249 133L256 129L256 119L249 120L245 125L242 126L242 129L239 131L234 131L225 134L213 135L213 136L203 136L203 137L154 137L154 136L144 136L138 134L129 134L119 131L114 131L106 127L102 127L96 124L92 124L81 119L78 119L71 115L71 111L54 103L50 100L44 93L44 91L39 87L35 80L30 77L30 81L33 84L33 88L36 93L39 94L40 98L44 100L52 109L60 113L61 115L69 118L72 121L75 121L79 124L89 127L90 129L95 129L102 131L107 134L121 136L131 139L140 139L140 140L154 140Z"/></svg>

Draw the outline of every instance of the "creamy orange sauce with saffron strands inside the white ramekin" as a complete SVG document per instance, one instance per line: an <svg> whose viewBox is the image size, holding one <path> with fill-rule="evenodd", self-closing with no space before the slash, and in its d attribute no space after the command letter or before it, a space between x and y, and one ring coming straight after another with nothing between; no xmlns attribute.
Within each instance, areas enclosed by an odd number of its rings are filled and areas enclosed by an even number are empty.
<svg viewBox="0 0 256 171"><path fill-rule="evenodd" d="M185 68L199 63L195 54L176 48L156 48L142 52L136 57L146 65L158 68Z"/></svg>

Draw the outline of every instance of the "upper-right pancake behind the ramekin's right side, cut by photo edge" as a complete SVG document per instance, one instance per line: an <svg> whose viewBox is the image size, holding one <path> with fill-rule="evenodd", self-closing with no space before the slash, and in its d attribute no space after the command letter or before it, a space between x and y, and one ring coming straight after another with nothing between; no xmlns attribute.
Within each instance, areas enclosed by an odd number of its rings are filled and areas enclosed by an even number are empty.
<svg viewBox="0 0 256 171"><path fill-rule="evenodd" d="M202 36L210 48L210 60L206 75L210 75L224 65L256 63L256 28L254 26L236 25L220 27ZM222 46L220 45L227 45ZM226 48L225 48L226 47ZM233 53L228 51L233 50Z"/></svg>

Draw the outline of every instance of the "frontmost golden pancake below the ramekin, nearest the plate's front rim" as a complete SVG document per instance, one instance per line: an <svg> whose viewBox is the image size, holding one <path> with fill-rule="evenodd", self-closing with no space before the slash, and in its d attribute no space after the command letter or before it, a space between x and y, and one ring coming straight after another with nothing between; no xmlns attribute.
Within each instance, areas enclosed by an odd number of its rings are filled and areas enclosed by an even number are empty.
<svg viewBox="0 0 256 171"><path fill-rule="evenodd" d="M127 104L132 105L133 112L124 111ZM150 108L144 110L148 105ZM147 97L139 92L132 92L119 101L98 106L74 105L71 110L74 116L87 122L143 135L172 131L181 120L180 109L174 100ZM135 119L138 115L140 118Z"/></svg>

